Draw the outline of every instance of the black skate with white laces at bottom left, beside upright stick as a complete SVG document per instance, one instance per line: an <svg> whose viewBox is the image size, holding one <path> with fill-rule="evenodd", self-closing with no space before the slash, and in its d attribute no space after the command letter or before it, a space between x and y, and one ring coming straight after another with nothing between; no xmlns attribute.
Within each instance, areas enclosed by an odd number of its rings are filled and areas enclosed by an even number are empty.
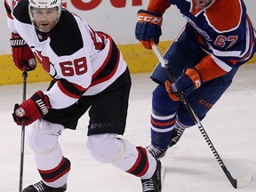
<svg viewBox="0 0 256 192"><path fill-rule="evenodd" d="M42 180L37 182L36 184L28 186L28 188L24 188L22 192L63 192L66 191L67 184L63 185L60 188L51 188L46 186Z"/></svg>

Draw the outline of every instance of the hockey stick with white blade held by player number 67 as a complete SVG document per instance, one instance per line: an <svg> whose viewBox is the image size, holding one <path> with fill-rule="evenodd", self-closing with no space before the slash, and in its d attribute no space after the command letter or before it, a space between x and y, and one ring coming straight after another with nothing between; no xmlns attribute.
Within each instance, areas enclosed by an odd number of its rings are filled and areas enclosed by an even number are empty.
<svg viewBox="0 0 256 192"><path fill-rule="evenodd" d="M162 56L161 52L158 50L158 47L154 42L151 42L151 47L152 47L153 51L155 52L156 57L157 57L157 59L159 60L159 62L161 64L161 67L164 68L164 70L165 70L167 76L169 77L171 83L173 83L175 81L175 78L174 78L174 76L172 76L170 68L168 68L168 60L164 60L164 57ZM216 148L214 148L214 146L212 144L212 141L210 140L208 134L205 132L203 124L201 124L200 119L196 115L194 109L189 104L187 97L185 96L185 94L183 92L178 92L178 94L180 96L180 100L183 102L184 106L187 108L189 115L192 117L192 119L195 122L195 124L197 125L199 131L204 136L204 140L207 142L208 146L211 148L213 155L215 156L215 158L219 162L221 169L226 174L226 176L227 176L228 180L230 181L231 185L234 188L244 188L244 187L248 186L252 181L252 172L248 173L246 176L244 176L244 178L241 178L241 179L236 180L232 177L232 175L228 171L226 165L221 160L220 155L218 154Z"/></svg>

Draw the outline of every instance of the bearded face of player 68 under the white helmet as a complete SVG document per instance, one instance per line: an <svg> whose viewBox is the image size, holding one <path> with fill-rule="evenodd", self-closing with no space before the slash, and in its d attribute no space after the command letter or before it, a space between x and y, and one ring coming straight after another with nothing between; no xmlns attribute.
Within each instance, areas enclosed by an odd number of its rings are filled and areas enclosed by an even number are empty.
<svg viewBox="0 0 256 192"><path fill-rule="evenodd" d="M49 32L58 20L58 8L33 8L31 10L36 27L44 32Z"/></svg>

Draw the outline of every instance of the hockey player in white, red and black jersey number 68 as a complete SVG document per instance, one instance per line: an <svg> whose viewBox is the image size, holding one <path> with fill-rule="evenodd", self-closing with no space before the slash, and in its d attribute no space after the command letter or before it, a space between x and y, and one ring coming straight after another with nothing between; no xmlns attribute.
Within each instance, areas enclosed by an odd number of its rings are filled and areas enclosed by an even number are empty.
<svg viewBox="0 0 256 192"><path fill-rule="evenodd" d="M33 70L36 56L54 79L48 90L16 104L12 114L16 124L32 124L28 144L42 178L23 192L67 190L70 162L58 138L65 129L76 129L87 110L87 148L92 156L139 177L142 191L160 192L160 161L117 137L124 134L131 77L111 36L95 32L63 8L61 0L4 0L4 5L15 65L22 70L25 62Z"/></svg>

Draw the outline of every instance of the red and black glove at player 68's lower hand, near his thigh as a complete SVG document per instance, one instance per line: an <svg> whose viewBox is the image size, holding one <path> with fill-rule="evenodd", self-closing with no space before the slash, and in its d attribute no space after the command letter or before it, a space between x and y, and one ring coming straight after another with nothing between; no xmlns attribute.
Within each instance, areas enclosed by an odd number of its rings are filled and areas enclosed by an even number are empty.
<svg viewBox="0 0 256 192"><path fill-rule="evenodd" d="M25 121L25 125L32 124L41 116L44 116L52 108L47 95L38 91L29 100L25 100L21 105L15 104L12 113L14 122L21 124Z"/></svg>

